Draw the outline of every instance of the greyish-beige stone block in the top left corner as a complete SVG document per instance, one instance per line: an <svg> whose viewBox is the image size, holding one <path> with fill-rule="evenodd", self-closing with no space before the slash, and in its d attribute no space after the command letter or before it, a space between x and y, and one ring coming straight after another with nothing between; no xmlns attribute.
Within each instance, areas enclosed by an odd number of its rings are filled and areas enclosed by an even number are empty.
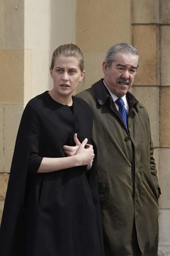
<svg viewBox="0 0 170 256"><path fill-rule="evenodd" d="M24 47L24 1L0 1L0 49Z"/></svg>

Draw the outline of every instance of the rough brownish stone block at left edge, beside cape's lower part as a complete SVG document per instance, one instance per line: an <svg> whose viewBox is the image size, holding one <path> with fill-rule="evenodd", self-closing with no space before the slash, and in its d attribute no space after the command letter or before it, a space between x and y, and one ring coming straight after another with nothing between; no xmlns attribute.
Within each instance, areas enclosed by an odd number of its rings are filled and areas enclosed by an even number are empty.
<svg viewBox="0 0 170 256"><path fill-rule="evenodd" d="M2 217L3 208L4 208L4 200L5 200L6 191L7 191L8 178L9 178L9 174L0 173L0 222L1 222L1 217Z"/></svg>

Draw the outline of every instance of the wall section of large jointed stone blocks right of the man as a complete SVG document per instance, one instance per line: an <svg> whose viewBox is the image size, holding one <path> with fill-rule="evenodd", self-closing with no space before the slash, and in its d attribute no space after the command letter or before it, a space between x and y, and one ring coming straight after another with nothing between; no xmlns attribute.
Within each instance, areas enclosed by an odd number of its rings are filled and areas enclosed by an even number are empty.
<svg viewBox="0 0 170 256"><path fill-rule="evenodd" d="M159 184L159 252L170 252L170 1L132 0L132 44L141 65L132 89L150 116ZM168 254L169 255L169 254Z"/></svg>

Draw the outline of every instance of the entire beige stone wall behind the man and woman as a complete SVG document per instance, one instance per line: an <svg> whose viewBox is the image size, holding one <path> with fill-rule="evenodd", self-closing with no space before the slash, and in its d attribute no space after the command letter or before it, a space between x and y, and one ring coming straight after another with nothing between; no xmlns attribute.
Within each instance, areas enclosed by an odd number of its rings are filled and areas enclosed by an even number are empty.
<svg viewBox="0 0 170 256"><path fill-rule="evenodd" d="M103 77L107 49L118 42L140 53L132 93L150 116L159 183L159 246L170 246L170 1L1 0L0 217L16 133L25 103L52 86L49 65L60 44L85 56L84 90ZM167 249L167 251L170 251Z"/></svg>

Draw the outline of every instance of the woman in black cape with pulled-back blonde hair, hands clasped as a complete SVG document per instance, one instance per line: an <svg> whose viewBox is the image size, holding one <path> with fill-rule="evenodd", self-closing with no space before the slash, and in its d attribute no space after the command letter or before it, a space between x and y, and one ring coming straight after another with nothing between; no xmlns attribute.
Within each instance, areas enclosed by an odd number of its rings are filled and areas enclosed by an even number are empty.
<svg viewBox="0 0 170 256"><path fill-rule="evenodd" d="M1 256L103 255L92 110L72 96L84 73L78 46L59 46L50 67L54 88L25 107L1 223ZM78 148L76 154L66 157L64 145Z"/></svg>

